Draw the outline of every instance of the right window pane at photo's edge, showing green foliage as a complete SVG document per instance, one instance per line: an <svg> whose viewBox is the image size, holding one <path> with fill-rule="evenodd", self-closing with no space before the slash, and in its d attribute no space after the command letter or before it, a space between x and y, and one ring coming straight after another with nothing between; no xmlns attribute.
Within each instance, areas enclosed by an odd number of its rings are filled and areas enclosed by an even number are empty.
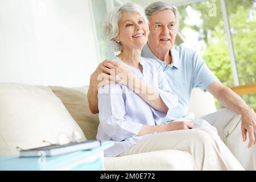
<svg viewBox="0 0 256 182"><path fill-rule="evenodd" d="M226 1L230 32L240 85L256 82L256 2L251 0ZM256 94L242 96L256 108Z"/></svg>

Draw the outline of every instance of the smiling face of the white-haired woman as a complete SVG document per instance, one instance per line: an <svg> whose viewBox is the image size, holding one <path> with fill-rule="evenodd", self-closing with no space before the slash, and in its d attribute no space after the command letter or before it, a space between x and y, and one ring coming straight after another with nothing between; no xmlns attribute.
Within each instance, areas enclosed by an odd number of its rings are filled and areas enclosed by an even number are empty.
<svg viewBox="0 0 256 182"><path fill-rule="evenodd" d="M147 43L147 25L138 13L123 13L118 28L117 40L124 49L142 48Z"/></svg>

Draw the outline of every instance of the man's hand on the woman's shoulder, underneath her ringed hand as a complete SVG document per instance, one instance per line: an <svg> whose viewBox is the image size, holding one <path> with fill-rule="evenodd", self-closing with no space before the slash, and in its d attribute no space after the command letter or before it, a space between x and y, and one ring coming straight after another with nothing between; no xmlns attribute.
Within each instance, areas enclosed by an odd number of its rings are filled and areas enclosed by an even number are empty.
<svg viewBox="0 0 256 182"><path fill-rule="evenodd" d="M96 70L90 76L90 84L97 86L97 88L108 84L114 84L114 82L110 79L110 74L102 69L104 64L108 63L109 61L110 60L104 60L98 65Z"/></svg>

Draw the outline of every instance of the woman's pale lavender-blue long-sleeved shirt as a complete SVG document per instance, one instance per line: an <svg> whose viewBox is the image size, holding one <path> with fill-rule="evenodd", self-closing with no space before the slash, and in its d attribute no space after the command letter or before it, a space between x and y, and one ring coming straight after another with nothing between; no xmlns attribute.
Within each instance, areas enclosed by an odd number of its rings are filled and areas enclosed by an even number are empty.
<svg viewBox="0 0 256 182"><path fill-rule="evenodd" d="M135 76L147 84L154 85L163 102L168 107L167 113L152 108L133 90L122 84L110 84L98 89L98 110L100 125L96 138L99 140L113 140L114 146L104 151L104 155L114 157L128 150L134 144L148 135L136 137L142 125L159 125L160 118L166 117L177 106L177 96L172 92L160 64L151 59L141 57L139 69L129 68ZM150 134L149 134L150 135Z"/></svg>

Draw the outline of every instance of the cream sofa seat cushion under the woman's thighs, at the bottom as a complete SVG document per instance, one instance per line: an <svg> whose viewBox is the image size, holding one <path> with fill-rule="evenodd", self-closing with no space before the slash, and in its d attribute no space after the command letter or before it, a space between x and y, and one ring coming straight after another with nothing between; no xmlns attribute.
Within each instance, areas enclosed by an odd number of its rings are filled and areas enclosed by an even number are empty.
<svg viewBox="0 0 256 182"><path fill-rule="evenodd" d="M161 150L116 158L104 158L108 171L194 170L193 159L188 152Z"/></svg>

